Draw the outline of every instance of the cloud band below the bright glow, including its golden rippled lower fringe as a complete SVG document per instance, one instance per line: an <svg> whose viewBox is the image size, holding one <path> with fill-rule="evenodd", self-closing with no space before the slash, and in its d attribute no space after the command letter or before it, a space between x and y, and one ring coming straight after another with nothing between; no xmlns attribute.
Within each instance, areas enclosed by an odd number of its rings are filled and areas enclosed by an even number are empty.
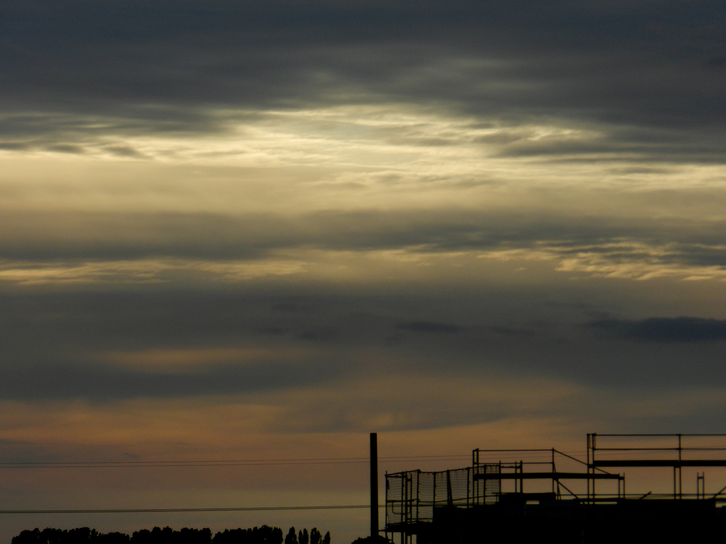
<svg viewBox="0 0 726 544"><path fill-rule="evenodd" d="M563 273L622 279L725 279L722 221L537 215L512 210L256 213L8 211L0 281L20 284L250 281L338 275L365 263L550 261ZM383 271L383 268L381 269ZM352 277L352 276L351 276ZM383 277L383 276L381 276Z"/></svg>

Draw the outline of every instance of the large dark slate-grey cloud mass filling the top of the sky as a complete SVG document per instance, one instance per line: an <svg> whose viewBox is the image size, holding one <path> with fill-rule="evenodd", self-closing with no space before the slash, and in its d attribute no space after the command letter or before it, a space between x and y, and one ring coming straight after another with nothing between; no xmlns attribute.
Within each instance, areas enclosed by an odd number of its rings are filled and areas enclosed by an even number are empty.
<svg viewBox="0 0 726 544"><path fill-rule="evenodd" d="M397 103L605 134L594 146L545 141L512 154L606 159L629 147L722 159L723 8L713 2L36 0L3 15L9 145L20 133L21 145L52 135L70 138L54 144L65 146L110 133L215 133L228 125L224 110Z"/></svg>

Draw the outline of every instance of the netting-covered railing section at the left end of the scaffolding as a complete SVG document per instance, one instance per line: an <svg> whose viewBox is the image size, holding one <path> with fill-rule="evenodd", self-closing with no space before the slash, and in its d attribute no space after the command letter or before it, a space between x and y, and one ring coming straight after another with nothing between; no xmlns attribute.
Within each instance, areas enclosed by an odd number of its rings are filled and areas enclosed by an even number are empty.
<svg viewBox="0 0 726 544"><path fill-rule="evenodd" d="M497 501L501 480L475 480L475 474L498 474L499 464L439 472L386 474L386 525L432 522L436 506L475 506Z"/></svg>

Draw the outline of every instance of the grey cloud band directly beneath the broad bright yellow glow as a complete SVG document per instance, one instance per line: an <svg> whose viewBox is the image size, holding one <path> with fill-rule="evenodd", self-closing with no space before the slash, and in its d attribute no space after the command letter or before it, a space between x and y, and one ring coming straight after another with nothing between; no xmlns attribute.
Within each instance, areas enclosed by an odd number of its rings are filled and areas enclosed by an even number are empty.
<svg viewBox="0 0 726 544"><path fill-rule="evenodd" d="M718 198L717 196L715 198ZM544 252L653 266L726 265L723 221L511 210L361 210L306 215L15 213L0 218L0 258L25 263L181 258L257 260L280 251ZM526 257L526 253L521 255Z"/></svg>

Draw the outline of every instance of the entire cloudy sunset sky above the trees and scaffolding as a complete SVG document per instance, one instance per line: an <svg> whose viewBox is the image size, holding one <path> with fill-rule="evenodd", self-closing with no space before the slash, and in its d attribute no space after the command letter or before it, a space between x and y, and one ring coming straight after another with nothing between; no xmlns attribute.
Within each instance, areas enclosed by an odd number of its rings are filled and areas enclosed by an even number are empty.
<svg viewBox="0 0 726 544"><path fill-rule="evenodd" d="M0 461L722 432L725 33L705 0L5 0ZM367 500L365 463L0 477L0 509Z"/></svg>

